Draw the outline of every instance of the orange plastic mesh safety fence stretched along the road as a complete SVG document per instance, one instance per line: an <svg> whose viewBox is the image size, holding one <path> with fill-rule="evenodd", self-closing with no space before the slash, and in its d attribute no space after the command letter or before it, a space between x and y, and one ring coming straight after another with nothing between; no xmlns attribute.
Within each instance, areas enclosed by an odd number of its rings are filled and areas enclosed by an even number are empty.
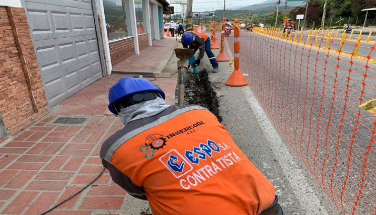
<svg viewBox="0 0 376 215"><path fill-rule="evenodd" d="M233 39L226 38L231 50ZM331 53L324 39L315 48L242 31L240 41L241 71L300 162L338 208L374 214L376 121L357 106L375 98L376 65ZM376 58L371 47L361 44L359 55Z"/></svg>

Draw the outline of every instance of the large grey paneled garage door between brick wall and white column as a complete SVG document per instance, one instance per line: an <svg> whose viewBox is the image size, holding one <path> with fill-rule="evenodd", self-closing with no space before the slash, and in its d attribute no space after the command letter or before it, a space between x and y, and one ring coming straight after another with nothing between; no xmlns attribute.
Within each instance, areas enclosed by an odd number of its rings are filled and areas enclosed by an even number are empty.
<svg viewBox="0 0 376 215"><path fill-rule="evenodd" d="M24 0L50 107L103 76L91 0Z"/></svg>

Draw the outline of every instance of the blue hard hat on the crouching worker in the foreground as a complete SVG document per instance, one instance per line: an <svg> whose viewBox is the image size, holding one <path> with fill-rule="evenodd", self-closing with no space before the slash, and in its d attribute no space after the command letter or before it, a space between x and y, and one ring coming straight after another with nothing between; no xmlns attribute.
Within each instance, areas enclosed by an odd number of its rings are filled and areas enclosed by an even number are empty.
<svg viewBox="0 0 376 215"><path fill-rule="evenodd" d="M165 99L165 93L146 79L131 77L121 78L114 86L110 88L110 91L108 93L108 101L110 102L108 109L112 113L118 115L118 112L115 108L117 102L120 102L120 100L126 98L131 98L135 94L144 94L151 92L159 93L163 97L163 99Z"/></svg>

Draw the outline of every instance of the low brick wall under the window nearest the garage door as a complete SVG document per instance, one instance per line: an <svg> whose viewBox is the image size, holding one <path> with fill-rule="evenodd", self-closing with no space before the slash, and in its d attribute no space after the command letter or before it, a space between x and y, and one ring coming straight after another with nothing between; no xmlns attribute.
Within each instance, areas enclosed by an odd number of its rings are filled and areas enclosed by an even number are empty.
<svg viewBox="0 0 376 215"><path fill-rule="evenodd" d="M134 54L134 38L126 38L115 42L110 42L110 56L111 63L115 65L122 59L125 59Z"/></svg>

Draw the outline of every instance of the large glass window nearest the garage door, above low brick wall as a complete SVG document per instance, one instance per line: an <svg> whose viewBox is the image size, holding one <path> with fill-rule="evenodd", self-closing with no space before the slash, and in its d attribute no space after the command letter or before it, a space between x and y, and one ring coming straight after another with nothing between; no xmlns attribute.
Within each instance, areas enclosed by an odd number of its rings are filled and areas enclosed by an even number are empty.
<svg viewBox="0 0 376 215"><path fill-rule="evenodd" d="M103 0L108 40L130 35L126 19L126 0ZM129 25L130 30L130 25Z"/></svg>

